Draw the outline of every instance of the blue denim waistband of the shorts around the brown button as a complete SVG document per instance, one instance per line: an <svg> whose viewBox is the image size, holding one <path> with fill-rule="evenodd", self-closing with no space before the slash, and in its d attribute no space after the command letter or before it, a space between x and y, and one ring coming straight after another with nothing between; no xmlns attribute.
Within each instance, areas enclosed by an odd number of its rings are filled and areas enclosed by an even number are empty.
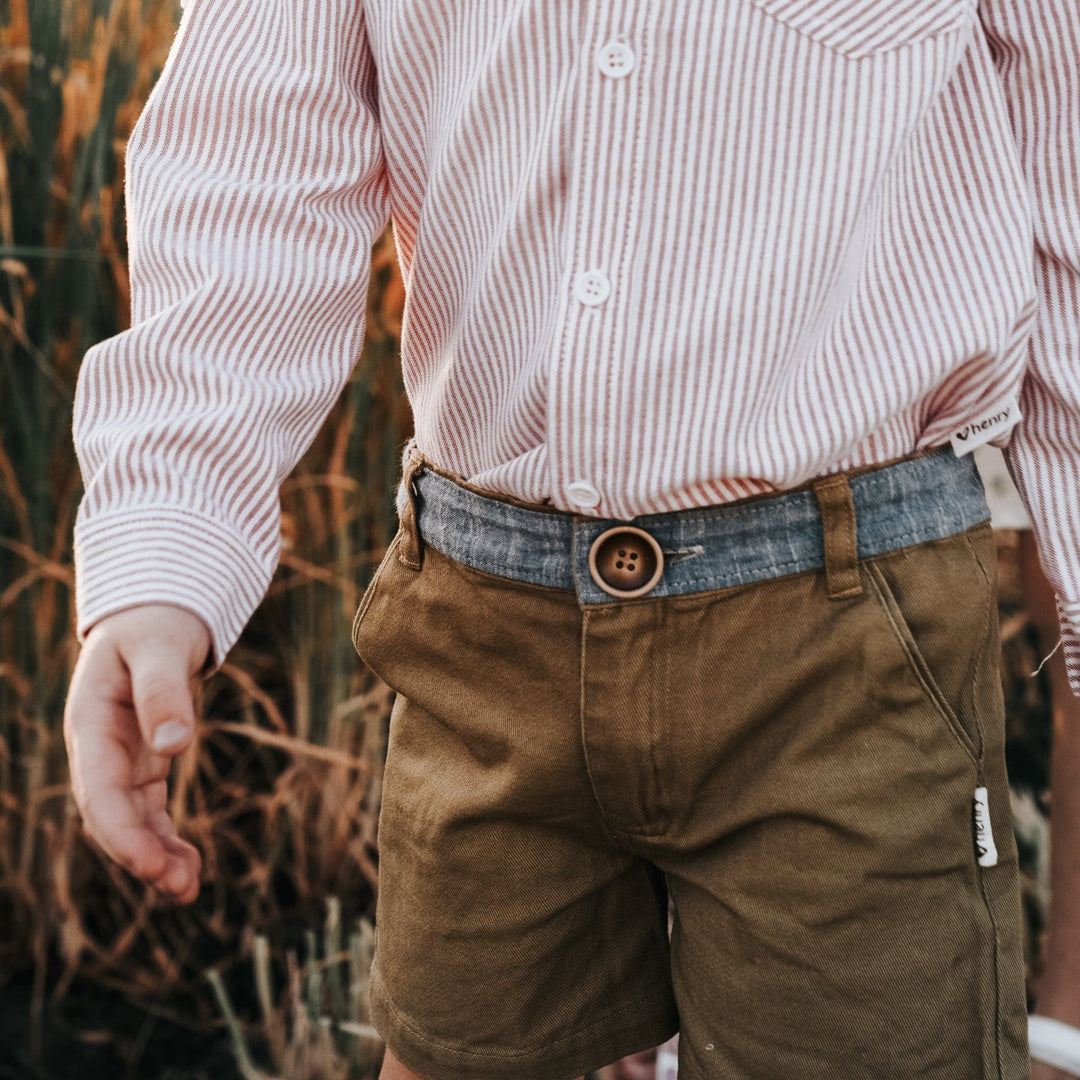
<svg viewBox="0 0 1080 1080"><path fill-rule="evenodd" d="M937 540L989 519L971 455L951 449L848 474L858 556ZM625 603L593 580L589 550L616 525L635 525L659 542L663 572L651 599L724 589L821 569L825 537L813 491L800 487L748 500L633 518L530 510L480 495L420 469L414 477L423 543L477 570L575 591L582 604ZM403 492L399 489L399 505Z"/></svg>

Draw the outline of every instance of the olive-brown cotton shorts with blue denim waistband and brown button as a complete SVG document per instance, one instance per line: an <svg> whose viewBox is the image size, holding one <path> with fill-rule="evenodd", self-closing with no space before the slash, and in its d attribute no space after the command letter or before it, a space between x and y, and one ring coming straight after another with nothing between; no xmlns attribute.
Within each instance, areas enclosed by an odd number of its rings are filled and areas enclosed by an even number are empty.
<svg viewBox="0 0 1080 1080"><path fill-rule="evenodd" d="M679 1030L680 1080L1028 1077L960 460L636 519L664 570L621 598L585 550L617 523L414 451L352 629L396 690L372 1009L408 1068L569 1080Z"/></svg>

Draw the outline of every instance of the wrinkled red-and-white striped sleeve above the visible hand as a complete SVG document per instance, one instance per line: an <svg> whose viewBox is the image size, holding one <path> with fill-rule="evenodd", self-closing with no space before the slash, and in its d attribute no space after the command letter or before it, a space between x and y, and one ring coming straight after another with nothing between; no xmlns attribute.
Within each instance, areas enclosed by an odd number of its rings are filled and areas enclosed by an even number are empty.
<svg viewBox="0 0 1080 1080"><path fill-rule="evenodd" d="M361 0L187 0L124 183L131 327L86 351L75 393L76 633L177 605L212 674L364 341L390 210Z"/></svg>

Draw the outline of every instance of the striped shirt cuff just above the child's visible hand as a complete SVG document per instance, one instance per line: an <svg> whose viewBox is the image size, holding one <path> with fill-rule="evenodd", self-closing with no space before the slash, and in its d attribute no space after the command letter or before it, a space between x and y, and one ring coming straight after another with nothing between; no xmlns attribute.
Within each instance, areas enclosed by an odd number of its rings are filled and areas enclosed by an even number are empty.
<svg viewBox="0 0 1080 1080"><path fill-rule="evenodd" d="M173 604L206 623L213 675L270 585L273 568L220 522L177 507L140 507L77 522L76 637L139 604Z"/></svg>

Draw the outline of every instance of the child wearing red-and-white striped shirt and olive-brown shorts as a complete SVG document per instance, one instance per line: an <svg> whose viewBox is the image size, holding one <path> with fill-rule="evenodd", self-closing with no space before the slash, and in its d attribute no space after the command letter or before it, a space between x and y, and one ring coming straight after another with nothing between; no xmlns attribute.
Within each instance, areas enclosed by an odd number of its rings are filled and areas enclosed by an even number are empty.
<svg viewBox="0 0 1080 1080"><path fill-rule="evenodd" d="M1026 1077L969 450L1007 446L1075 690L1078 133L1063 0L188 0L77 388L90 835L194 897L188 680L392 219L416 437L352 631L397 691L384 1080L676 1029L685 1077Z"/></svg>

